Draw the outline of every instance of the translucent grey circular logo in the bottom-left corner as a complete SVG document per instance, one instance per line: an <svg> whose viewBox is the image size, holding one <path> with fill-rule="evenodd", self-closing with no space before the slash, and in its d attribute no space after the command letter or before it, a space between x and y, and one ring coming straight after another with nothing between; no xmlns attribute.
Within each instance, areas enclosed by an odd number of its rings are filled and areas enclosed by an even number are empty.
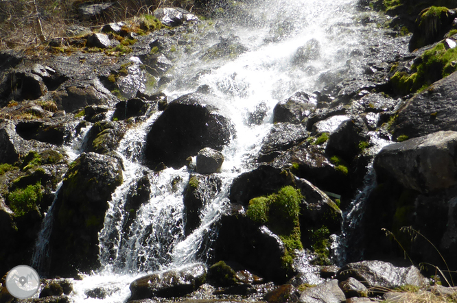
<svg viewBox="0 0 457 303"><path fill-rule="evenodd" d="M15 298L31 298L40 288L40 277L27 265L14 267L6 276L6 289Z"/></svg>

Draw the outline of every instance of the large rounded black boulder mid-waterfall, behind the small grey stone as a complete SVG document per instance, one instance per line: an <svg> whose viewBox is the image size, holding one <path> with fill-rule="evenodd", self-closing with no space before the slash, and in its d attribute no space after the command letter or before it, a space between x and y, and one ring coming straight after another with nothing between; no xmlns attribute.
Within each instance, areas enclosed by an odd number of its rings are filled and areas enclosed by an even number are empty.
<svg viewBox="0 0 457 303"><path fill-rule="evenodd" d="M229 121L200 94L184 95L170 102L152 125L146 158L152 165L179 168L186 158L204 147L222 150L231 137Z"/></svg>

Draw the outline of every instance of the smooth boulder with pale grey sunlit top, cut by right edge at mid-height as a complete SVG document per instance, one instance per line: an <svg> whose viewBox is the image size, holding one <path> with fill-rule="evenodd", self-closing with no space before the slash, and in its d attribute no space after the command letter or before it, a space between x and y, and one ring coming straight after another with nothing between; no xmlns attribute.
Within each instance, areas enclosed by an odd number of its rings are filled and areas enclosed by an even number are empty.
<svg viewBox="0 0 457 303"><path fill-rule="evenodd" d="M375 157L378 180L429 193L457 184L457 132L436 132L384 147Z"/></svg>

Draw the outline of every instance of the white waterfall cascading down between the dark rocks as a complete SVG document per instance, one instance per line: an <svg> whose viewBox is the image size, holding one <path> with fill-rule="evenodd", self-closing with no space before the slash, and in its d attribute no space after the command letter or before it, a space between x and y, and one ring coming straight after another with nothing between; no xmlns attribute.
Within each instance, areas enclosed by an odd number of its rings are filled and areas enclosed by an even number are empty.
<svg viewBox="0 0 457 303"><path fill-rule="evenodd" d="M368 13L358 11L356 4L356 0L250 1L239 4L247 7L248 14L238 19L200 21L198 32L187 37L194 40L194 46L176 50L178 59L166 74L172 81L161 90L172 100L206 85L214 105L233 123L236 136L222 151L221 189L203 210L200 227L184 237L187 167L157 174L141 165L147 131L160 113L128 130L117 149L124 160L124 183L113 194L99 232L102 269L74 281L75 302L100 302L85 294L97 287L106 290L104 302L124 302L134 278L198 262L196 251L202 247L209 253L205 245L214 236L211 223L226 209L233 179L253 169L253 157L273 125L274 106L297 91L322 90L337 71L363 73L359 59L368 47L366 41L382 40L382 34L378 33L381 29L367 28L360 22L362 14L366 17ZM222 58L202 59L221 39L235 41L245 49ZM311 58L305 62L294 59L300 47L313 45L318 47ZM259 107L266 109L266 115L260 125L250 125L249 114ZM122 233L126 196L144 176L150 180L150 199L137 211L126 237Z"/></svg>

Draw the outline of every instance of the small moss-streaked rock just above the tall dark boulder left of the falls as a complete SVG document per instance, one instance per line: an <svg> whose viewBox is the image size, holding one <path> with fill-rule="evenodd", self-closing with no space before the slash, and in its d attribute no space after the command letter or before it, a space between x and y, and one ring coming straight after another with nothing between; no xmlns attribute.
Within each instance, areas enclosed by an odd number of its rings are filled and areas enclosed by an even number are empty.
<svg viewBox="0 0 457 303"><path fill-rule="evenodd" d="M107 154L110 151L115 151L125 132L126 129L123 124L107 121L97 122L89 130L87 140L82 149L84 151L95 151L97 154Z"/></svg>

